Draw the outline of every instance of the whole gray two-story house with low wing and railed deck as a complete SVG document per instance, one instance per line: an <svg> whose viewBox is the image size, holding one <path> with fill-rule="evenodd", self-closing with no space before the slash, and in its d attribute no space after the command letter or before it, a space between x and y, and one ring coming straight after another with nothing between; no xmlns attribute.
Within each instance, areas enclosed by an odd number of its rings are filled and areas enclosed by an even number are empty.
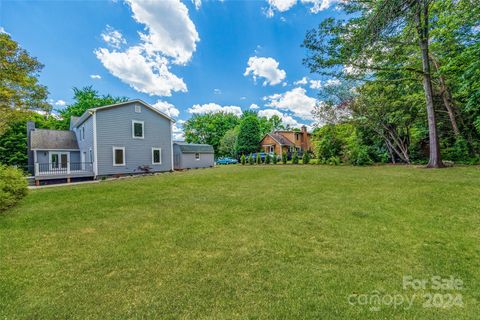
<svg viewBox="0 0 480 320"><path fill-rule="evenodd" d="M141 100L87 110L70 130L29 123L29 164L41 180L172 171L173 120Z"/></svg>

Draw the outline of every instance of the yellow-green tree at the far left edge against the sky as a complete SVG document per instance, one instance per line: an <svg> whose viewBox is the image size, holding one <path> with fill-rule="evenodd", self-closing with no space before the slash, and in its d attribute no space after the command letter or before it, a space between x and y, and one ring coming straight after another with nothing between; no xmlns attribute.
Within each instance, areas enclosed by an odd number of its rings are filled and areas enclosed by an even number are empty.
<svg viewBox="0 0 480 320"><path fill-rule="evenodd" d="M0 134L27 110L49 111L48 91L38 82L43 65L0 33Z"/></svg>

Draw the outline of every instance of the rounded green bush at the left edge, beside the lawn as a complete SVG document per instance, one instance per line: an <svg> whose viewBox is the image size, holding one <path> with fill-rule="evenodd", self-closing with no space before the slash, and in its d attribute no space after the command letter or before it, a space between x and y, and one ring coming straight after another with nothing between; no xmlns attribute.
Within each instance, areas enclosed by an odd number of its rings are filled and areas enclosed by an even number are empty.
<svg viewBox="0 0 480 320"><path fill-rule="evenodd" d="M27 195L27 190L22 171L0 165L0 212L14 206Z"/></svg>

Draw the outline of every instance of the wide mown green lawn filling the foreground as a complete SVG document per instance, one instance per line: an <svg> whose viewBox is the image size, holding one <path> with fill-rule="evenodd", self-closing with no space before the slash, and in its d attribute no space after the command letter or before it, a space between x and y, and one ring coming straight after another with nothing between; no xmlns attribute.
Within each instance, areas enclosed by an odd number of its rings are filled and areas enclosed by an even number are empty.
<svg viewBox="0 0 480 320"><path fill-rule="evenodd" d="M478 167L226 166L34 190L0 215L0 318L478 319L479 197Z"/></svg>

